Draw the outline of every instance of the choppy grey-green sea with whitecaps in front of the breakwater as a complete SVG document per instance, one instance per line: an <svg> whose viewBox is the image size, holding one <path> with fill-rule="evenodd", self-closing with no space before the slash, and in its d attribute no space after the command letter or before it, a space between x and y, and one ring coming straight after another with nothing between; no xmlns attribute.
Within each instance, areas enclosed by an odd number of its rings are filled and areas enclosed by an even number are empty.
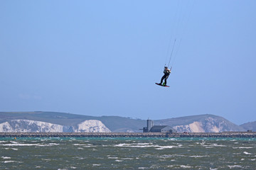
<svg viewBox="0 0 256 170"><path fill-rule="evenodd" d="M0 138L0 169L256 169L256 139Z"/></svg>

